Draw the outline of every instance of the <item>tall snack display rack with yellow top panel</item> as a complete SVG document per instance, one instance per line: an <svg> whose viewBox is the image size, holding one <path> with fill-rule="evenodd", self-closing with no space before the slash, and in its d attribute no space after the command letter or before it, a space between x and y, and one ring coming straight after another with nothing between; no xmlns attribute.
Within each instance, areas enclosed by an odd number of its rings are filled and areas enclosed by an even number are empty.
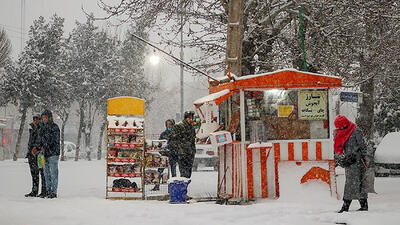
<svg viewBox="0 0 400 225"><path fill-rule="evenodd" d="M144 199L145 101L107 101L106 199Z"/></svg>

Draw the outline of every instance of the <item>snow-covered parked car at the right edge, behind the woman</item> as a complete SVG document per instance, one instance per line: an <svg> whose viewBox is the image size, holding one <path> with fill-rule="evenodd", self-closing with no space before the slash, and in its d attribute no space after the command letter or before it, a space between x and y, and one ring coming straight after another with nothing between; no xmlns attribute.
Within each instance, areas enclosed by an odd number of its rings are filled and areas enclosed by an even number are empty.
<svg viewBox="0 0 400 225"><path fill-rule="evenodd" d="M387 134L375 152L375 176L400 176L400 132Z"/></svg>

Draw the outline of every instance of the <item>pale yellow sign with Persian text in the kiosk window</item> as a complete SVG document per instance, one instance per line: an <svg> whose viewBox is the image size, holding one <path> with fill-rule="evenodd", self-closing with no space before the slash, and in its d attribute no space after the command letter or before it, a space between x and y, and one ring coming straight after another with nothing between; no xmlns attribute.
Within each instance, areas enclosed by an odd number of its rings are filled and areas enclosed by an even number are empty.
<svg viewBox="0 0 400 225"><path fill-rule="evenodd" d="M328 119L326 91L299 91L299 119Z"/></svg>

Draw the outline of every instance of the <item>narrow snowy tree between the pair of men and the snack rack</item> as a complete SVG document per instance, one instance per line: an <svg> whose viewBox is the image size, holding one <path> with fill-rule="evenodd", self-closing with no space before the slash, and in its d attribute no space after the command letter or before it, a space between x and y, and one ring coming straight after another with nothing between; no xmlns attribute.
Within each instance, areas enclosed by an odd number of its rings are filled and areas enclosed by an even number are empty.
<svg viewBox="0 0 400 225"><path fill-rule="evenodd" d="M74 97L79 105L75 161L79 159L82 133L85 134L86 146L90 146L88 139L90 140L90 132L97 111L96 105L93 103L97 99L96 93L101 83L98 73L100 54L97 47L102 44L97 42L97 29L92 17L88 17L85 23L76 22L76 27L72 30L67 45L68 71L72 78ZM88 149L85 150L88 153Z"/></svg>

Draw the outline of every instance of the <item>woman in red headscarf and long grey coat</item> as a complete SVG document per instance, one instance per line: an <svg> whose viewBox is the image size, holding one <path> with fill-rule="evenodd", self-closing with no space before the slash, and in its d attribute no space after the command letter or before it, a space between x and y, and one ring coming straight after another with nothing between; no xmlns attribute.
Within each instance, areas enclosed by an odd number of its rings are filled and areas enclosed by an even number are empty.
<svg viewBox="0 0 400 225"><path fill-rule="evenodd" d="M372 155L367 150L361 130L345 116L336 117L335 127L335 161L345 169L346 175L343 206L339 213L348 212L353 199L360 202L359 211L368 211L368 193L363 177Z"/></svg>

